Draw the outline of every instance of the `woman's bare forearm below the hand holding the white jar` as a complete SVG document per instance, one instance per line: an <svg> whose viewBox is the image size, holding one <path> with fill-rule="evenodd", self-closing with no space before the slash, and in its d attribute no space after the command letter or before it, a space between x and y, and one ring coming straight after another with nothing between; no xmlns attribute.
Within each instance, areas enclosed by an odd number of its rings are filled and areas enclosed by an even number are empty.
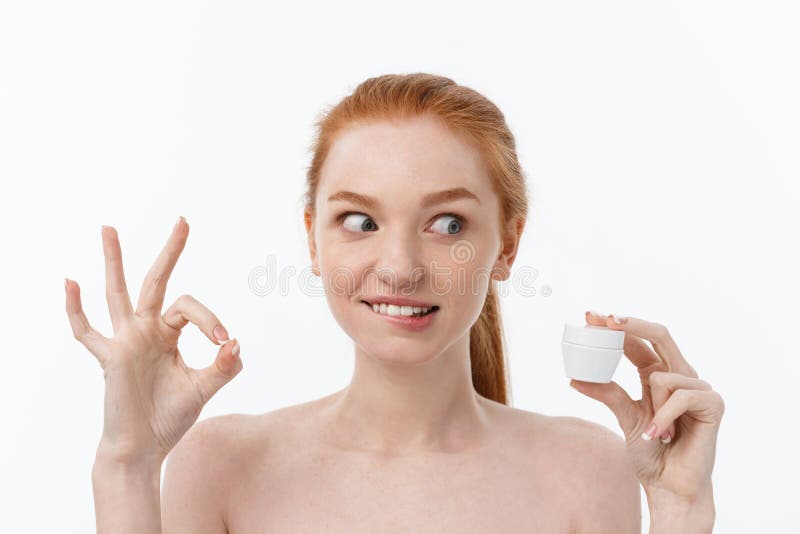
<svg viewBox="0 0 800 534"><path fill-rule="evenodd" d="M708 534L714 527L714 491L708 488L694 499L645 488L650 509L650 534L682 532Z"/></svg>

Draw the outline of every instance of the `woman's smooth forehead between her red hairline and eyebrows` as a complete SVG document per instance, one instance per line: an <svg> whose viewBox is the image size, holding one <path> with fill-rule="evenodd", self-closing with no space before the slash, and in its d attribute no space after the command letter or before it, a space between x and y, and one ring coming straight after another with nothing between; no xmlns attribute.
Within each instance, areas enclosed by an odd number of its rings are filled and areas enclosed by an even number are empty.
<svg viewBox="0 0 800 534"><path fill-rule="evenodd" d="M466 187L493 193L478 149L432 116L375 120L339 132L320 173L318 199L339 190L392 202Z"/></svg>

